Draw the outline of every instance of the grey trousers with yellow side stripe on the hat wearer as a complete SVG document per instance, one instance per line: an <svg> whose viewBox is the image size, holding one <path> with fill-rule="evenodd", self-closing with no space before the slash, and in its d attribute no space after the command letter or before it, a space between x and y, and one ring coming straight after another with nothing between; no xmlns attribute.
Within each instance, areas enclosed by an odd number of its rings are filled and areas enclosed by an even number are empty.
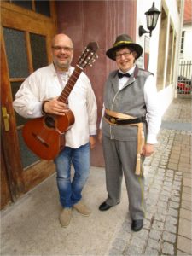
<svg viewBox="0 0 192 256"><path fill-rule="evenodd" d="M129 211L132 219L145 216L144 177L135 174L137 160L137 141L117 141L102 136L106 169L107 203L114 206L120 201L123 174L129 199ZM143 171L143 160L141 170Z"/></svg>

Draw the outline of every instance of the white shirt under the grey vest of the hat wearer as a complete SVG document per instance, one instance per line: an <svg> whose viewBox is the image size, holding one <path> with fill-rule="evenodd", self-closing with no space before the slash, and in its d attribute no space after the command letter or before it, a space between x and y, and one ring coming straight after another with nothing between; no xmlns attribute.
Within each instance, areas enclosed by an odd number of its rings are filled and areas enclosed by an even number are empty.
<svg viewBox="0 0 192 256"><path fill-rule="evenodd" d="M127 73L134 73L135 67L131 67L129 72ZM122 73L121 71L119 71ZM119 90L121 90L124 85L129 80L128 77L123 77L119 79ZM154 83L154 76L149 75L144 84L144 99L147 107L147 119L148 119L148 137L147 142L148 144L155 144L157 143L157 134L160 131L160 124L161 124L161 116L160 116L160 103L158 99L157 89ZM102 117L104 115L104 106L102 108ZM100 124L100 128L102 127L102 121Z"/></svg>

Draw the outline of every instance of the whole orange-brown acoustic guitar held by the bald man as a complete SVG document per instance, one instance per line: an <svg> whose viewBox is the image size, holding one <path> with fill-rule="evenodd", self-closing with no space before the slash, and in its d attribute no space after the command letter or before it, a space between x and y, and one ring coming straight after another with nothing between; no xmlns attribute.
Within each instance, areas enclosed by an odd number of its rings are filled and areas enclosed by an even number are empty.
<svg viewBox="0 0 192 256"><path fill-rule="evenodd" d="M67 98L84 67L92 66L96 60L97 49L96 42L90 42L86 46L58 101L67 103ZM65 147L65 133L74 122L74 115L70 109L63 116L47 113L40 118L29 120L22 129L22 136L34 154L44 160L53 160Z"/></svg>

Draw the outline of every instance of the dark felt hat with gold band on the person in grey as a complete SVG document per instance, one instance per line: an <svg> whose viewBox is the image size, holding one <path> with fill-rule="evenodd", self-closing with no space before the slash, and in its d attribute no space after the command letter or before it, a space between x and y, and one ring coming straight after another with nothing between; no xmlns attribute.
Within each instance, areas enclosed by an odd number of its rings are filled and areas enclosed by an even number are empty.
<svg viewBox="0 0 192 256"><path fill-rule="evenodd" d="M138 59L143 53L143 48L141 45L134 43L130 36L122 34L116 38L113 47L107 50L106 55L108 56L108 58L115 61L115 51L122 47L129 47L131 49L134 49L137 52L136 59Z"/></svg>

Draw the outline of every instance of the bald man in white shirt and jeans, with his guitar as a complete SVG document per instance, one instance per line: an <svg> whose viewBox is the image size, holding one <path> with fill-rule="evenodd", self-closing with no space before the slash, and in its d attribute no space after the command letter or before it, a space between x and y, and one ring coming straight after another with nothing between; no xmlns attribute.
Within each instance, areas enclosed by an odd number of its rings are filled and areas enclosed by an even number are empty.
<svg viewBox="0 0 192 256"><path fill-rule="evenodd" d="M53 63L39 68L21 84L13 105L21 116L32 119L23 129L27 146L43 159L54 158L62 207L59 219L61 226L67 227L73 208L90 215L81 193L90 172L90 148L96 143L97 107L90 80L82 70L95 52L88 47L72 67L73 42L63 33L52 39L51 50ZM62 140L65 144L61 147Z"/></svg>

